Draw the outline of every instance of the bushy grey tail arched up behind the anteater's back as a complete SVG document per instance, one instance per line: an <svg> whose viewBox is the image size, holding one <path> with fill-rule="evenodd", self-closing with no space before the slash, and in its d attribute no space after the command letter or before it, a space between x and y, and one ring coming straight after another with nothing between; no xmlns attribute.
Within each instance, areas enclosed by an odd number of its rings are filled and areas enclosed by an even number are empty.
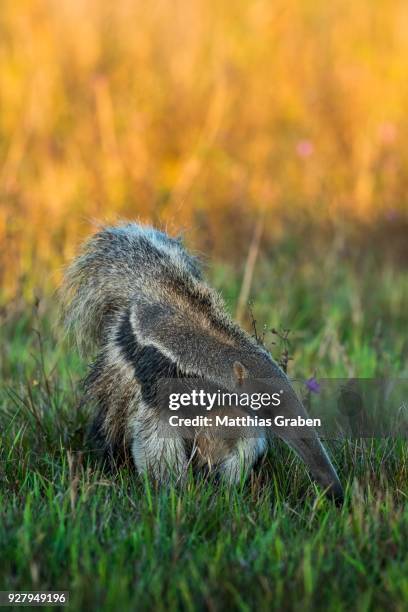
<svg viewBox="0 0 408 612"><path fill-rule="evenodd" d="M197 260L186 253L180 239L138 223L103 227L85 242L65 272L65 328L87 353L108 339L109 329L137 292L152 290L162 278L183 283L200 276Z"/></svg>

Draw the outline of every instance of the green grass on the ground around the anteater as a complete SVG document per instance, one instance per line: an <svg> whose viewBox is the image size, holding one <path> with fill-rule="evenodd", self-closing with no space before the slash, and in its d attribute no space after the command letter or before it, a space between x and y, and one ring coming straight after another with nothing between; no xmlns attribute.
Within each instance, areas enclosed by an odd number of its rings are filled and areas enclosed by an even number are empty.
<svg viewBox="0 0 408 612"><path fill-rule="evenodd" d="M233 308L239 275L213 280ZM283 252L259 262L253 311L258 329L291 328L293 376L406 377L407 289L386 264ZM84 446L86 365L54 315L50 297L1 315L0 589L69 590L72 609L407 609L405 440L331 445L341 509L280 443L234 489L108 474Z"/></svg>

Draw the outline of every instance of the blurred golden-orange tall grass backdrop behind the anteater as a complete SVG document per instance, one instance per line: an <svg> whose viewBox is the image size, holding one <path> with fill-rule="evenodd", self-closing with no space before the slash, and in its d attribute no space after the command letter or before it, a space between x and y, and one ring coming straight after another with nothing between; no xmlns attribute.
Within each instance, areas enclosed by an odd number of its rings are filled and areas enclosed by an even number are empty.
<svg viewBox="0 0 408 612"><path fill-rule="evenodd" d="M404 0L3 0L0 109L6 293L55 285L93 219L231 261L259 219L406 248Z"/></svg>

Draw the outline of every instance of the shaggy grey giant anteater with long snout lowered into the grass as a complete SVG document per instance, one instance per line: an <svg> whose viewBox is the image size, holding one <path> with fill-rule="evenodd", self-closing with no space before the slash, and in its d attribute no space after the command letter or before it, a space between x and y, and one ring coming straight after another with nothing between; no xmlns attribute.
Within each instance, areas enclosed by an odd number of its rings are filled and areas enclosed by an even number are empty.
<svg viewBox="0 0 408 612"><path fill-rule="evenodd" d="M180 478L190 462L238 481L265 452L268 436L213 438L194 444L169 435L149 389L159 378L199 377L236 390L242 379L279 380L289 417L305 415L288 378L270 354L231 320L197 259L178 239L152 227L105 227L83 246L62 287L68 331L96 358L84 401L95 406L94 432L114 458L130 452L139 472ZM279 435L336 500L342 489L317 435Z"/></svg>

